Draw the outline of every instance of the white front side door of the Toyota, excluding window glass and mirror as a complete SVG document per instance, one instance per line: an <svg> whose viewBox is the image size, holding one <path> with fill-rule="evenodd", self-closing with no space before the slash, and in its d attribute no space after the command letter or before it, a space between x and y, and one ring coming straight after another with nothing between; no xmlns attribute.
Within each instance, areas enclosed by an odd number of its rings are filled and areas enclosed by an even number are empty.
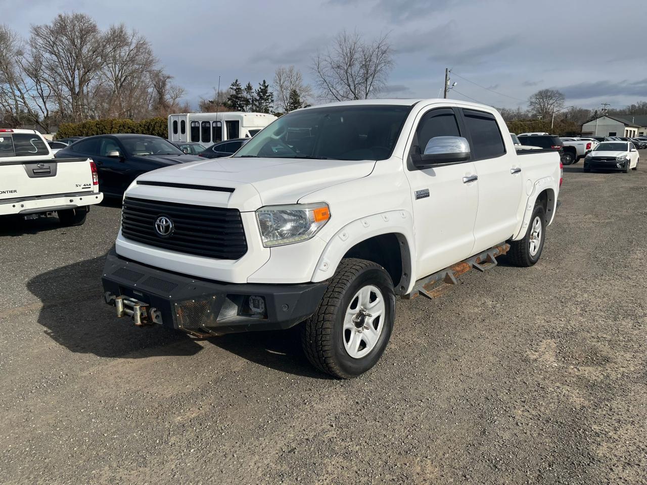
<svg viewBox="0 0 647 485"><path fill-rule="evenodd" d="M418 115L404 167L413 204L416 279L469 257L474 247L479 199L474 163L417 169L411 161L411 154L422 153L435 136L465 136L452 108L433 108Z"/></svg>

